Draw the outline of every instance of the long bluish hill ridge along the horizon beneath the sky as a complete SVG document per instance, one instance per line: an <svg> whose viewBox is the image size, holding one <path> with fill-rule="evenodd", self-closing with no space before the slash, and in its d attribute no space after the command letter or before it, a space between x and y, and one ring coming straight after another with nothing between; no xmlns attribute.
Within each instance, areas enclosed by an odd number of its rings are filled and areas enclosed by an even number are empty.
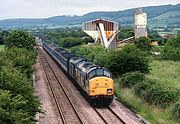
<svg viewBox="0 0 180 124"><path fill-rule="evenodd" d="M142 7L148 13L150 27L180 26L180 4ZM46 19L7 19L0 21L0 28L32 28L80 25L84 21L104 18L114 20L121 26L133 24L133 15L137 8L112 12L91 12L83 16L56 16Z"/></svg>

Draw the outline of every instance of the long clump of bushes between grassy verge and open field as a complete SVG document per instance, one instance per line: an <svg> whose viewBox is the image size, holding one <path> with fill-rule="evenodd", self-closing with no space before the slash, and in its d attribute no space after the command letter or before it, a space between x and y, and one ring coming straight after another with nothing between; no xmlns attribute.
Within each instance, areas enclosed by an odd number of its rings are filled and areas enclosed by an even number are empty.
<svg viewBox="0 0 180 124"><path fill-rule="evenodd" d="M135 93L146 102L160 107L166 107L180 97L177 89L150 80L140 72L126 73L122 75L120 82L124 87L134 88Z"/></svg>

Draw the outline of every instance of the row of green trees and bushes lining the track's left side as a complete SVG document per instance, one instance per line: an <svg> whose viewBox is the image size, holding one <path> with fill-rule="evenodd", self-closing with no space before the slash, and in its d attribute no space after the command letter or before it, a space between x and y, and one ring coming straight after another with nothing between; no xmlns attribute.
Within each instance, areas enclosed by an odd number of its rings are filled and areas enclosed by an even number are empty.
<svg viewBox="0 0 180 124"><path fill-rule="evenodd" d="M34 123L41 111L32 84L35 40L23 31L9 32L4 40L6 47L0 52L0 123Z"/></svg>

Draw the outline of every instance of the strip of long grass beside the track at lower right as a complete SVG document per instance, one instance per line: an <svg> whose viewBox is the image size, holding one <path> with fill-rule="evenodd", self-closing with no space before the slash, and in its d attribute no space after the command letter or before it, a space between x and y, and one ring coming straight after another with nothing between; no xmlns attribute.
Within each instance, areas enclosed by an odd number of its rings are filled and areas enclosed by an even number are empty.
<svg viewBox="0 0 180 124"><path fill-rule="evenodd" d="M116 95L124 104L142 115L153 124L177 124L171 114L173 105L166 109L149 105L140 97L136 96L133 89L115 88Z"/></svg>

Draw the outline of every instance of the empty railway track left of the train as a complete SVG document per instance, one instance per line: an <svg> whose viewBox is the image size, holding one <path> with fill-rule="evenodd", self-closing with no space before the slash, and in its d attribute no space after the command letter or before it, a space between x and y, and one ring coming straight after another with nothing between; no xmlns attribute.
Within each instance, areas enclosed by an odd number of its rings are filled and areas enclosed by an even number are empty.
<svg viewBox="0 0 180 124"><path fill-rule="evenodd" d="M42 52L40 53L40 59L62 123L84 124L70 97L67 95L62 82L57 78L50 63L46 60Z"/></svg>

